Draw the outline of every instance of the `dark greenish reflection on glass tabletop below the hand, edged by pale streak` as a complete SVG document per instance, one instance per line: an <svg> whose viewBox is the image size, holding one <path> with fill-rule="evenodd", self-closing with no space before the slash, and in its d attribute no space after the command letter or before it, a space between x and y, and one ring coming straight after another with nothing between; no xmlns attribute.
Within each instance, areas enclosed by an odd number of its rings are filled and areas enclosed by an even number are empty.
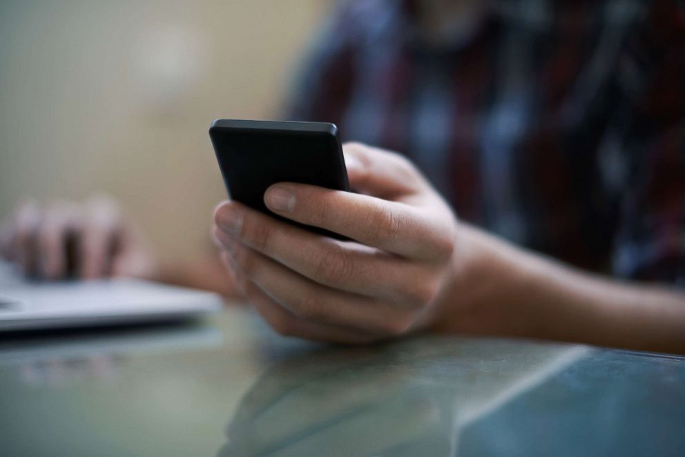
<svg viewBox="0 0 685 457"><path fill-rule="evenodd" d="M431 337L296 356L242 398L219 455L454 455L463 425L585 351Z"/></svg>

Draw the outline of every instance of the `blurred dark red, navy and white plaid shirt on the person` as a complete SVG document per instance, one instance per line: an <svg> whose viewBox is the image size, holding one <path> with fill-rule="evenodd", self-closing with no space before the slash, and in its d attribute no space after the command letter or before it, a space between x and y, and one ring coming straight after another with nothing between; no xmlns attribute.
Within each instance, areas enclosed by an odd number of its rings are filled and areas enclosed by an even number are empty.
<svg viewBox="0 0 685 457"><path fill-rule="evenodd" d="M291 117L406 154L462 220L512 242L685 284L685 8L487 5L436 46L412 2L343 4Z"/></svg>

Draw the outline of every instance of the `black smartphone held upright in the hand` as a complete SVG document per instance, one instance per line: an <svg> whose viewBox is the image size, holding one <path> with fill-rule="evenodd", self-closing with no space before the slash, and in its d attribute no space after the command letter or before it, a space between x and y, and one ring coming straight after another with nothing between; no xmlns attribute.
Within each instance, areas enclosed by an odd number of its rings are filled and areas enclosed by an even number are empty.
<svg viewBox="0 0 685 457"><path fill-rule="evenodd" d="M277 182L349 191L340 135L325 122L217 119L209 137L232 200L315 233L337 233L298 224L269 211L264 192Z"/></svg>

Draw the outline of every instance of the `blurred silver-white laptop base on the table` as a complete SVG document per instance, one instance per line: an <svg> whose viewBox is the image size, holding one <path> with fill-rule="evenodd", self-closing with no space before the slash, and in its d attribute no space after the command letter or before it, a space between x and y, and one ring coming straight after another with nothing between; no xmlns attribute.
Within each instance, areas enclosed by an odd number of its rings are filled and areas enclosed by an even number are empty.
<svg viewBox="0 0 685 457"><path fill-rule="evenodd" d="M0 332L177 321L221 306L215 293L142 280L29 281L0 262Z"/></svg>

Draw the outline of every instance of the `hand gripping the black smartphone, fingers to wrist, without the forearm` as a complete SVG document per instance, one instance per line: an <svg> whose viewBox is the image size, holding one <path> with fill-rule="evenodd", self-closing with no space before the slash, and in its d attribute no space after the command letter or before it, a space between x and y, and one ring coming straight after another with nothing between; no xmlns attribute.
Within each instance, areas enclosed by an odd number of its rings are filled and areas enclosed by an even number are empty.
<svg viewBox="0 0 685 457"><path fill-rule="evenodd" d="M214 213L222 260L276 331L362 343L426 327L454 273L457 223L407 159L344 147L352 188L280 183L267 206L291 220L351 238L333 240L238 202Z"/></svg>

